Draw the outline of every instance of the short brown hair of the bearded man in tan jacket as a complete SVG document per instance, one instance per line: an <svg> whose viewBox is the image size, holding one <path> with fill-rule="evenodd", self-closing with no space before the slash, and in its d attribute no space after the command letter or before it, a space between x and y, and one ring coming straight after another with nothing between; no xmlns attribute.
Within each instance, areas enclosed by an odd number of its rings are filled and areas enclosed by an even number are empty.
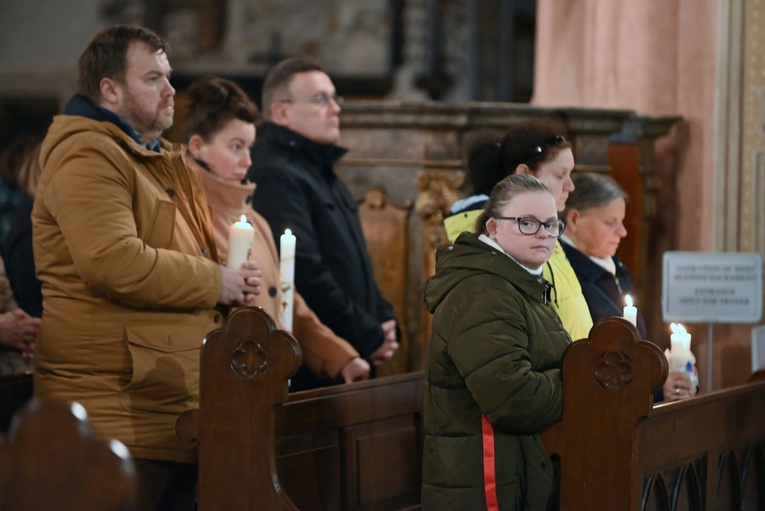
<svg viewBox="0 0 765 511"><path fill-rule="evenodd" d="M127 50L133 41L146 43L154 51L167 51L167 42L148 28L114 25L96 34L77 62L79 92L92 101L101 99L101 80L124 82Z"/></svg>

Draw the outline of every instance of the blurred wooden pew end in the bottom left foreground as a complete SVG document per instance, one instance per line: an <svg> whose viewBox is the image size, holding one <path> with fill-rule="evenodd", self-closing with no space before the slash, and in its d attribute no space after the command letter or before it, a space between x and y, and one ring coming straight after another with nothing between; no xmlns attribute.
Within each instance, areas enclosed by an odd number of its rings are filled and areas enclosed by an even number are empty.
<svg viewBox="0 0 765 511"><path fill-rule="evenodd" d="M127 447L92 436L78 403L33 399L0 442L0 508L125 511L137 496Z"/></svg>

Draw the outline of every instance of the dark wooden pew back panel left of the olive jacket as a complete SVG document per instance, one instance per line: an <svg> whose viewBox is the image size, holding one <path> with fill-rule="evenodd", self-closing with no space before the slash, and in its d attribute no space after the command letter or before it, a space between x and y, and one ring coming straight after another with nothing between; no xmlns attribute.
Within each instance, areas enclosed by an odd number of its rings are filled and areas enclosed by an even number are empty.
<svg viewBox="0 0 765 511"><path fill-rule="evenodd" d="M290 394L279 474L301 511L419 509L422 372Z"/></svg>

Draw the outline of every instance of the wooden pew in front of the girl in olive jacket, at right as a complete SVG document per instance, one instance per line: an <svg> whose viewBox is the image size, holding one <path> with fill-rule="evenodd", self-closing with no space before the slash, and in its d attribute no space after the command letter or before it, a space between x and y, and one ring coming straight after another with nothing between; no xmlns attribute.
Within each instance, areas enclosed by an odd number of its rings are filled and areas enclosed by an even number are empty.
<svg viewBox="0 0 765 511"><path fill-rule="evenodd" d="M667 361L621 318L563 358L563 419L543 441L559 509L765 509L765 378L652 406Z"/></svg>

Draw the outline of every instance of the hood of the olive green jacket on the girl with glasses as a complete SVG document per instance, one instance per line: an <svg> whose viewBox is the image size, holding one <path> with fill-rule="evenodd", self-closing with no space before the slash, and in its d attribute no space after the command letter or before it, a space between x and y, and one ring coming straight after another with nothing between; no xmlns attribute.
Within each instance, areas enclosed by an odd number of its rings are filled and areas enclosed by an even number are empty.
<svg viewBox="0 0 765 511"><path fill-rule="evenodd" d="M443 299L464 279L493 274L541 303L550 300L551 284L532 275L506 254L487 245L473 233L462 233L452 245L436 249L436 274L425 282L425 306L433 313Z"/></svg>

